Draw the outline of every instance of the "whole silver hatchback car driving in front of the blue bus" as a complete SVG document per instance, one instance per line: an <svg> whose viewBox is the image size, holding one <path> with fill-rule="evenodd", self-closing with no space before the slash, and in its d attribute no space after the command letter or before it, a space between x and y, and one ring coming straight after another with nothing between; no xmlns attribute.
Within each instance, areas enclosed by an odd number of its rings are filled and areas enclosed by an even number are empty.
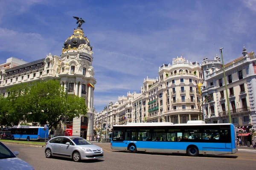
<svg viewBox="0 0 256 170"><path fill-rule="evenodd" d="M45 146L45 156L72 158L73 161L103 158L103 149L78 136L58 136Z"/></svg>

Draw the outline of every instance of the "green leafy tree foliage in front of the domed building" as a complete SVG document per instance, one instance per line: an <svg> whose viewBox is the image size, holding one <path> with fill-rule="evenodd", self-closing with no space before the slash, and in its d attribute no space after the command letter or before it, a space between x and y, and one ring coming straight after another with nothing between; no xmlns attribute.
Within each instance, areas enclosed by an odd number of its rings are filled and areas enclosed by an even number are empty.
<svg viewBox="0 0 256 170"><path fill-rule="evenodd" d="M51 129L65 115L66 102L67 116L70 118L87 113L84 99L74 95L66 96L57 80L22 83L7 91L10 95L0 98L0 104L3 103L0 106L0 118L5 117L6 125L17 125L21 120L29 118L34 122L48 123Z"/></svg>

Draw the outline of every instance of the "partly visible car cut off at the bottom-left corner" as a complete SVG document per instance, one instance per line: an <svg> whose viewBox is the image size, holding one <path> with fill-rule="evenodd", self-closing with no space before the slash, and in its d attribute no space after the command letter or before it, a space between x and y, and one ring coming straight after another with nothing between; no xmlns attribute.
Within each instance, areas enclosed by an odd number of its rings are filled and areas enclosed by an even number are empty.
<svg viewBox="0 0 256 170"><path fill-rule="evenodd" d="M16 157L19 152L12 152L0 142L0 169L2 170L35 170L27 162Z"/></svg>

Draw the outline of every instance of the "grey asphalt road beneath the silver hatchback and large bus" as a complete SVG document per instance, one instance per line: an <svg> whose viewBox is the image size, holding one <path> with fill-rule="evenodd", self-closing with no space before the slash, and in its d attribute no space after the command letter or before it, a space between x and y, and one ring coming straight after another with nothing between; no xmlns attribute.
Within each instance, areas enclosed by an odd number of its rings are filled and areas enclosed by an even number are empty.
<svg viewBox="0 0 256 170"><path fill-rule="evenodd" d="M51 158L44 155L44 148L7 145L19 151L19 158L35 170L255 170L256 150L239 149L224 156L189 157L178 154L128 153L111 150L109 143L94 143L105 151L104 158L73 162L71 159Z"/></svg>

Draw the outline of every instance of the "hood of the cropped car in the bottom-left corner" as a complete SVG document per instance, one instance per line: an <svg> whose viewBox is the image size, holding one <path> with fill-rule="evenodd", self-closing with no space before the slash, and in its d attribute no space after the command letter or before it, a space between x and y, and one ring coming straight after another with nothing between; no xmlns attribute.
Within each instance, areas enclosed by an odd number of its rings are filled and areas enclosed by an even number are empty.
<svg viewBox="0 0 256 170"><path fill-rule="evenodd" d="M35 170L30 164L19 158L0 159L0 170Z"/></svg>

